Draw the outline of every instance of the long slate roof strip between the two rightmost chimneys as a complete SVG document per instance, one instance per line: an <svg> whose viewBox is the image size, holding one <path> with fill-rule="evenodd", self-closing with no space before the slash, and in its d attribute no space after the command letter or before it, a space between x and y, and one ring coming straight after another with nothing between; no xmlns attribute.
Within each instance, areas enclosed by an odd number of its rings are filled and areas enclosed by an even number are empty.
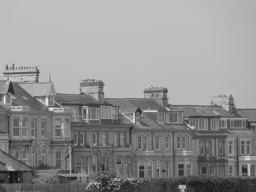
<svg viewBox="0 0 256 192"><path fill-rule="evenodd" d="M236 117L236 113L229 113L221 106L208 105L168 105L171 110L182 110L183 117L189 116L223 116Z"/></svg>

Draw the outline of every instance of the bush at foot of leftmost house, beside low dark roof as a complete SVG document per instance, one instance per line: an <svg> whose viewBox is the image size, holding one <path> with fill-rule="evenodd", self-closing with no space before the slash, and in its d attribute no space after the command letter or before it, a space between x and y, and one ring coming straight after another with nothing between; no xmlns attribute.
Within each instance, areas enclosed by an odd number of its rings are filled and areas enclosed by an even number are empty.
<svg viewBox="0 0 256 192"><path fill-rule="evenodd" d="M32 182L35 184L56 184L58 183L58 170L50 169L46 175L33 179Z"/></svg>

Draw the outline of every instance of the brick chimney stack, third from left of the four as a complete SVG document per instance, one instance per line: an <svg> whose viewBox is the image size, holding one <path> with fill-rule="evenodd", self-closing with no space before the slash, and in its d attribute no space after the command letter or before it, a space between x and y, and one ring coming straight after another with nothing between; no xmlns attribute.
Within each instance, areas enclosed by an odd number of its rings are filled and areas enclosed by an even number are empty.
<svg viewBox="0 0 256 192"><path fill-rule="evenodd" d="M166 108L168 105L167 88L166 87L148 87L144 91L145 99L154 99L162 107Z"/></svg>

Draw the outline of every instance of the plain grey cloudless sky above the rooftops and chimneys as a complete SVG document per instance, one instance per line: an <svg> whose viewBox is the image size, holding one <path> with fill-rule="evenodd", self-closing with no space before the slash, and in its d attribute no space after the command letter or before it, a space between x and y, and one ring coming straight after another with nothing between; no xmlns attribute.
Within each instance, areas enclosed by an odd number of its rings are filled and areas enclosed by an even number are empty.
<svg viewBox="0 0 256 192"><path fill-rule="evenodd" d="M236 108L256 108L255 10L255 0L0 0L0 66L39 66L57 93L101 79L106 98L153 85L172 105L232 94Z"/></svg>

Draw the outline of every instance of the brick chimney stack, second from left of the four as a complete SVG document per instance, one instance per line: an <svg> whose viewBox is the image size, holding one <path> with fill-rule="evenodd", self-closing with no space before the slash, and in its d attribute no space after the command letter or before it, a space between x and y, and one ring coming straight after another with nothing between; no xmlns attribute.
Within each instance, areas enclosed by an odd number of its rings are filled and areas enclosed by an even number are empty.
<svg viewBox="0 0 256 192"><path fill-rule="evenodd" d="M94 97L97 101L104 103L104 83L102 80L84 79L80 83L81 93Z"/></svg>

